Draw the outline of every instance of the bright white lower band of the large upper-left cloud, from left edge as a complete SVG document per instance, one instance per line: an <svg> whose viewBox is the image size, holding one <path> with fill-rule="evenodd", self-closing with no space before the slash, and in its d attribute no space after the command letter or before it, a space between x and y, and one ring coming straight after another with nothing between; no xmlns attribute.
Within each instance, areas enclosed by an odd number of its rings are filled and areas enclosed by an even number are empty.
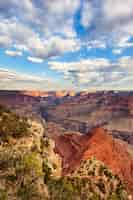
<svg viewBox="0 0 133 200"><path fill-rule="evenodd" d="M80 42L76 38L61 36L40 38L30 27L18 23L16 20L1 21L0 34L4 35L4 40L0 36L0 44L4 42L8 46L12 43L16 49L29 52L32 57L42 59L80 48Z"/></svg>

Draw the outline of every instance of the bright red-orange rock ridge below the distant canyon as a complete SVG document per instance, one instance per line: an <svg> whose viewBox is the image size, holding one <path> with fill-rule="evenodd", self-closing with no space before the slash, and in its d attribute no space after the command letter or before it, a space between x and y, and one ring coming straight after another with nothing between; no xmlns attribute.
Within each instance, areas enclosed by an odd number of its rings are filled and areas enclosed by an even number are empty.
<svg viewBox="0 0 133 200"><path fill-rule="evenodd" d="M75 134L58 136L55 150L63 159L64 174L77 167L82 159L94 156L118 174L133 194L133 159L128 147L125 143L113 139L104 129L97 128L85 136Z"/></svg>

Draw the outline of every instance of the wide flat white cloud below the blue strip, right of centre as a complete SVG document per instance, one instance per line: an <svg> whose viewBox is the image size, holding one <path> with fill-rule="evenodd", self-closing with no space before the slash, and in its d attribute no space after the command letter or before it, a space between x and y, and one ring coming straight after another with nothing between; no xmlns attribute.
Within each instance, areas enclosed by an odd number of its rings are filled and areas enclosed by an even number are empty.
<svg viewBox="0 0 133 200"><path fill-rule="evenodd" d="M61 63L51 61L48 63L52 70L64 74L65 79L71 80L75 85L98 85L105 76L110 76L107 71L113 67L109 60L104 58L83 59L77 62Z"/></svg>

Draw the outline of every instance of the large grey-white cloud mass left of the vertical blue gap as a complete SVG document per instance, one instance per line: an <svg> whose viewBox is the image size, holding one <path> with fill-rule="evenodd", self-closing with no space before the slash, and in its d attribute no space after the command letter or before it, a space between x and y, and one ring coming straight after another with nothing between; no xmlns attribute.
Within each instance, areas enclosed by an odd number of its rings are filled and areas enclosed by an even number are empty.
<svg viewBox="0 0 133 200"><path fill-rule="evenodd" d="M41 58L73 51L78 47L73 16L79 6L79 0L0 1L0 46L24 47Z"/></svg>

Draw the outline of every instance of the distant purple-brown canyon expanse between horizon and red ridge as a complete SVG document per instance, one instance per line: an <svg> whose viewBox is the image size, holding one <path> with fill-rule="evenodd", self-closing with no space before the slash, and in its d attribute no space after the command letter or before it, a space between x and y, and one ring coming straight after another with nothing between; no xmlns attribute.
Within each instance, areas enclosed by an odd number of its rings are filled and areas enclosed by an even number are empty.
<svg viewBox="0 0 133 200"><path fill-rule="evenodd" d="M18 114L40 117L69 131L87 134L103 127L133 144L133 92L0 91L0 104Z"/></svg>

